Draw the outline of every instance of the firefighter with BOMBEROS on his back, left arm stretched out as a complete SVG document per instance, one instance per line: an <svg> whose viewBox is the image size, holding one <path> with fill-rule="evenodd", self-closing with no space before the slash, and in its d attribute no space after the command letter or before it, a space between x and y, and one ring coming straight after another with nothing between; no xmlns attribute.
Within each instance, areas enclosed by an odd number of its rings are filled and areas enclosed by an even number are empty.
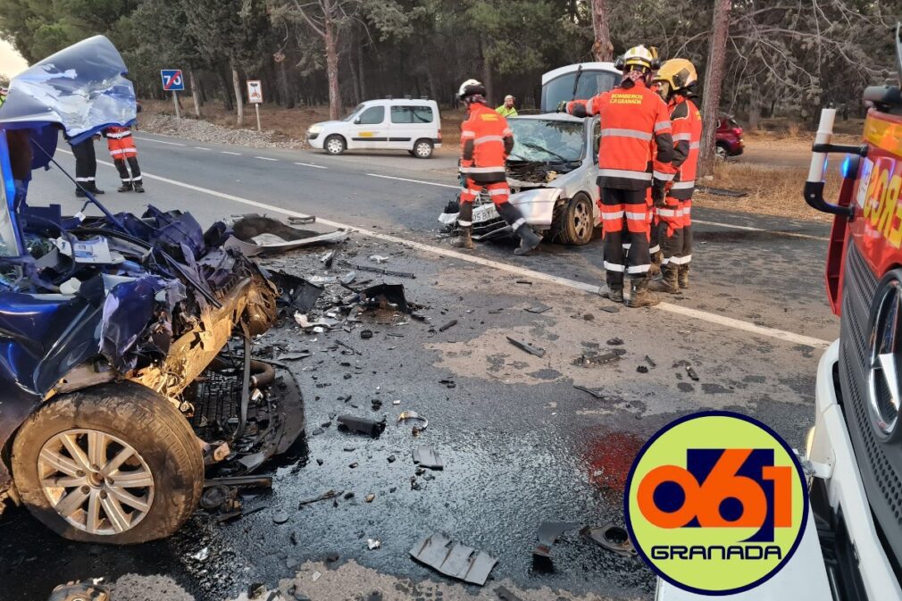
<svg viewBox="0 0 902 601"><path fill-rule="evenodd" d="M598 147L598 185L601 188L604 269L607 289L603 296L623 301L624 275L630 277L628 307L657 305L649 291L649 186L652 198L664 198L664 180L652 173L651 162L667 164L673 156L667 105L649 89L657 60L644 46L630 48L617 60L623 71L621 85L587 101L564 102L558 110L574 116L601 118ZM625 256L624 228L630 252Z"/></svg>

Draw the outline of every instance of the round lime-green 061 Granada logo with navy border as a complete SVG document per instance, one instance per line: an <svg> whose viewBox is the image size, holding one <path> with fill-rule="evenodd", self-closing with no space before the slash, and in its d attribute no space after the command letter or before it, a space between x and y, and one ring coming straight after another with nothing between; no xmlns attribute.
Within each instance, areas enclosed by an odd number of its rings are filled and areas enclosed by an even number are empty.
<svg viewBox="0 0 902 601"><path fill-rule="evenodd" d="M624 510L640 556L661 578L706 595L776 574L808 515L795 453L778 434L727 411L668 424L630 470Z"/></svg>

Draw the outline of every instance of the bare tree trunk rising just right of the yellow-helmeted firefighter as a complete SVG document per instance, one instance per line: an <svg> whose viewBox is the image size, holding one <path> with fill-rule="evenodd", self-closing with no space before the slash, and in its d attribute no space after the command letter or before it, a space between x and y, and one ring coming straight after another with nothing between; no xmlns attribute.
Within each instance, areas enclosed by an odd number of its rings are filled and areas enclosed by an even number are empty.
<svg viewBox="0 0 902 601"><path fill-rule="evenodd" d="M723 65L727 53L727 35L730 32L731 0L714 0L711 45L708 49L708 66L704 71L704 97L702 98L701 155L698 161L700 176L712 175L714 171L714 142L717 135L717 117L721 104Z"/></svg>

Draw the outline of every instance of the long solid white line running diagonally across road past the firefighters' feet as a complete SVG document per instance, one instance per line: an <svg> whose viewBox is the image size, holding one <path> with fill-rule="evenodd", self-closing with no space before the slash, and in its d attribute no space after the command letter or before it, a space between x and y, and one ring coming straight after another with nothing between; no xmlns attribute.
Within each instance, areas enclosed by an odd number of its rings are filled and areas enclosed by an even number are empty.
<svg viewBox="0 0 902 601"><path fill-rule="evenodd" d="M69 151L61 150L63 153L71 154ZM100 164L106 165L107 167L114 167L115 165L111 162L106 161L97 161ZM208 194L210 196L215 196L219 199L231 200L233 202L237 202L243 205L247 205L249 207L262 208L268 211L272 211L275 213L281 213L283 215L287 215L290 217L311 217L306 213L300 213L299 211L293 211L288 208L276 207L275 205L270 205L264 202L258 202L256 200L251 199L243 199L239 196L235 196L232 194L226 194L225 192L219 192L217 190L210 190L208 188L201 188L200 186L195 186L193 184L185 183L184 181L170 180L169 178L164 178L159 175L152 175L151 173L143 172L143 176L149 180L158 180L164 183L171 184L173 186L178 186L179 188L184 188L186 190L194 190L196 192L202 192L204 194ZM536 272L531 269L526 269L525 267L519 267L517 265L511 265L507 263L502 263L500 261L492 261L492 259L485 259L481 256L474 256L470 254L459 253L454 250L448 250L446 248L440 248L438 246L432 246L423 244L421 242L413 242L411 240L405 240L404 238L400 238L398 236L390 236L388 234L380 234L377 232L372 232L361 227L349 226L344 223L339 223L337 221L331 221L329 219L322 219L317 217L317 222L329 227L336 227L345 229L347 232L356 233L360 236L368 236L374 238L376 240L382 240L383 242L391 242L392 244L400 244L405 245L409 248L413 248L415 250L422 251L424 253L438 254L439 256L444 256L451 259L458 259L460 261L465 261L467 263L483 265L485 267L491 267L492 269L497 269L498 271L502 271L505 273L511 273L513 275L518 276L526 276L533 280L538 280L541 282L548 282L557 284L559 286L565 286L566 288L571 288L578 291L588 292L590 294L597 294L599 291L599 287L586 282L577 282L575 280L569 280L567 278L562 278L557 275L550 275L548 273ZM714 324L716 326L723 326L725 328L737 329L743 332L747 332L749 334L755 336L764 336L769 338L776 338L778 340L783 340L785 342L790 342L796 345L804 345L805 347L815 347L815 348L826 348L829 347L831 341L822 340L820 338L805 336L802 334L796 334L796 332L789 332L787 330L778 329L778 328L768 328L766 326L759 326L757 324L750 323L749 321L742 321L741 319L733 319L730 317L726 317L723 315L717 315L716 313L709 313L707 311L690 309L688 307L683 307L681 305L673 305L668 302L662 302L652 309L664 310L669 313L674 313L676 315L680 315L683 317L698 319L701 321L706 321L708 323Z"/></svg>

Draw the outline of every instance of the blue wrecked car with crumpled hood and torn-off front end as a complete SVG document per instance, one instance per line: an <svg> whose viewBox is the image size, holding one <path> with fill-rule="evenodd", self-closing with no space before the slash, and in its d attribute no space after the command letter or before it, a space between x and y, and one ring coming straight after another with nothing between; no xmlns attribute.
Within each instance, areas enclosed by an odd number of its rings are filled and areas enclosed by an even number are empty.
<svg viewBox="0 0 902 601"><path fill-rule="evenodd" d="M211 466L253 471L303 429L297 384L251 358L279 291L225 225L90 194L75 217L28 204L60 135L133 122L124 73L98 36L15 78L0 108L0 512L24 505L74 541L169 536Z"/></svg>

